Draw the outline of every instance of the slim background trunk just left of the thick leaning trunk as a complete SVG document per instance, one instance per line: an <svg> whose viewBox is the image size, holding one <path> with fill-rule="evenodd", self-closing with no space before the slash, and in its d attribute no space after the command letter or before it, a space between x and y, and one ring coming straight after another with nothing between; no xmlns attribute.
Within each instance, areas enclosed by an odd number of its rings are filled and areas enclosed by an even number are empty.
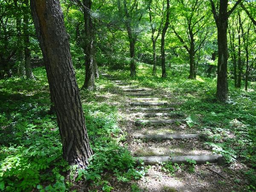
<svg viewBox="0 0 256 192"><path fill-rule="evenodd" d="M26 7L29 6L29 0L24 1ZM31 51L29 48L29 13L25 13L23 17L24 26L23 26L23 32L24 32L24 52L25 52L25 72L26 72L26 78L27 79L34 79L34 74L32 72L31 68Z"/></svg>

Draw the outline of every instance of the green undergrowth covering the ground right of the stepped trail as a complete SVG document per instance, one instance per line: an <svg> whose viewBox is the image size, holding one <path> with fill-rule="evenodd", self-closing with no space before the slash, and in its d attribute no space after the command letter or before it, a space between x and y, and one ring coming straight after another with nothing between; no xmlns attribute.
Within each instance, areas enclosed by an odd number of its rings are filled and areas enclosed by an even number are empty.
<svg viewBox="0 0 256 192"><path fill-rule="evenodd" d="M227 163L240 160L248 166L244 174L253 186L256 186L256 83L249 82L249 90L238 89L229 79L229 100L225 103L215 100L216 78L197 76L188 79L174 68L167 67L167 78L161 78L161 69L157 76L151 76L152 66L140 63L137 76L129 77L128 70L109 70L105 72L117 76L139 87L150 87L154 91L169 96L170 102L186 114L189 127L208 135L206 145L212 151L224 155ZM244 85L242 84L242 87ZM252 171L251 171L252 170Z"/></svg>

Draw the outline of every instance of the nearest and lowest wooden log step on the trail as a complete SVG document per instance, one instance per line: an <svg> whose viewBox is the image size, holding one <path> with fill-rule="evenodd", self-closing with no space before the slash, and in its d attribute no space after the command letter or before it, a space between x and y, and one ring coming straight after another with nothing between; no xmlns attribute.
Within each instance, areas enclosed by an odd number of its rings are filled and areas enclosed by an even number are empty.
<svg viewBox="0 0 256 192"><path fill-rule="evenodd" d="M150 157L136 157L136 161L141 165L140 160L144 162L144 165L155 165L159 162L172 162L177 164L188 164L187 160L195 160L196 164L218 163L223 165L225 160L221 154L209 154L209 155L186 155L186 156L150 156Z"/></svg>

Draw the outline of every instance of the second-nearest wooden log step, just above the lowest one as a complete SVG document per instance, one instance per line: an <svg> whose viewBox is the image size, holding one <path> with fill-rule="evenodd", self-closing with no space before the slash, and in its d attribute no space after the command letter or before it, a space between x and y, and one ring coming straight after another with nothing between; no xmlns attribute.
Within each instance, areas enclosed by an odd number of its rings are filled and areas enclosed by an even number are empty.
<svg viewBox="0 0 256 192"><path fill-rule="evenodd" d="M182 140L198 138L200 134L179 134L179 135L134 135L135 139L145 140Z"/></svg>

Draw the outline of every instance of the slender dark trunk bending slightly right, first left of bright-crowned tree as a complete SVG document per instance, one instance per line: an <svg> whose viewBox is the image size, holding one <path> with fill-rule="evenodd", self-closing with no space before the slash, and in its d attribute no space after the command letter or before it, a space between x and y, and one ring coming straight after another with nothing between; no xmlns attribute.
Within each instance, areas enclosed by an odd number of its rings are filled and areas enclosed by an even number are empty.
<svg viewBox="0 0 256 192"><path fill-rule="evenodd" d="M165 65L165 50L164 50L164 38L166 31L169 26L170 19L170 0L166 1L166 21L163 26L162 34L161 34L161 66L162 66L162 77L166 77L166 65Z"/></svg>

